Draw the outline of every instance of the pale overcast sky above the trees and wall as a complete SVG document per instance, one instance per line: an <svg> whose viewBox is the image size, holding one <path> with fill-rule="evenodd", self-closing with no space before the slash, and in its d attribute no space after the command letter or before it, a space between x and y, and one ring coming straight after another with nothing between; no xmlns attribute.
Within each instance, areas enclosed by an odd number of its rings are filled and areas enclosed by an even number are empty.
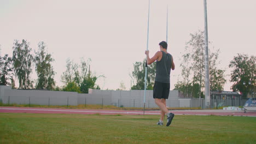
<svg viewBox="0 0 256 144"><path fill-rule="evenodd" d="M181 79L181 56L190 33L204 30L203 0L151 0L149 56L166 40L168 5L168 52L176 69L171 89ZM236 53L256 54L256 1L208 0L208 39L220 49L219 68L226 70L225 91L230 91L228 65ZM0 0L1 56L12 56L14 39L30 42L33 51L44 41L53 55L55 80L62 86L66 59L79 63L91 58L91 70L104 75L96 83L117 89L124 82L130 89L133 63L143 61L147 46L148 0L35 1ZM36 79L34 73L32 76ZM16 83L18 86L18 82Z"/></svg>

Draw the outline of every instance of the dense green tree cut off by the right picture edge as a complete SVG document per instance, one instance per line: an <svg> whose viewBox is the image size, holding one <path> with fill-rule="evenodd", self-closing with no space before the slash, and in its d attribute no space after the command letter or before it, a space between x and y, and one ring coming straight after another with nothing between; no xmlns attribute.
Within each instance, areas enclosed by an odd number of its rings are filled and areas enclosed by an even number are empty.
<svg viewBox="0 0 256 144"><path fill-rule="evenodd" d="M243 95L247 95L250 89L255 86L256 79L256 57L244 54L237 54L232 61L230 61L229 68L233 68L231 71L231 82L234 82L231 89L233 91L242 92ZM249 85L251 81L252 85ZM246 85L243 85L243 82Z"/></svg>

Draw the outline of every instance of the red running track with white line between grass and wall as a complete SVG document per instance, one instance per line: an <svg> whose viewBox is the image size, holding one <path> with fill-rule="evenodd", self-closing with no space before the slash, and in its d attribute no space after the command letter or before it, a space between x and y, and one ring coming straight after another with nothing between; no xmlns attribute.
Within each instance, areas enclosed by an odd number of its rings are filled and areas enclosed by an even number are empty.
<svg viewBox="0 0 256 144"><path fill-rule="evenodd" d="M48 109L35 107L0 107L1 113L65 113L92 115L143 115L143 111L126 110L86 110L86 109ZM224 110L174 110L175 115L216 115L216 116L252 116L256 117L256 112L224 111ZM145 111L145 115L159 115L160 111Z"/></svg>

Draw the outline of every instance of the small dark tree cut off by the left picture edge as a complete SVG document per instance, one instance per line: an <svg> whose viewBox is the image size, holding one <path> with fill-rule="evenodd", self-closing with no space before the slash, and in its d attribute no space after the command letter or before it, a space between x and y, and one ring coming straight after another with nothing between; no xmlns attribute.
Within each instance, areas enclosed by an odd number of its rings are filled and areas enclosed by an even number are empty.
<svg viewBox="0 0 256 144"><path fill-rule="evenodd" d="M13 80L13 69L11 69L11 57L7 54L4 57L0 56L0 85L11 85L9 80Z"/></svg>

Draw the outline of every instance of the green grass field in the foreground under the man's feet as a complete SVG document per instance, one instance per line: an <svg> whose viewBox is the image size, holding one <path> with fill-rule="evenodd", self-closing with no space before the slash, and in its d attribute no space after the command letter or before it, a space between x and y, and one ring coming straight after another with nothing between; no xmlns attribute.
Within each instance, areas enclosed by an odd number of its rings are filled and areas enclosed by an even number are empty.
<svg viewBox="0 0 256 144"><path fill-rule="evenodd" d="M0 143L255 143L256 117L0 113Z"/></svg>

